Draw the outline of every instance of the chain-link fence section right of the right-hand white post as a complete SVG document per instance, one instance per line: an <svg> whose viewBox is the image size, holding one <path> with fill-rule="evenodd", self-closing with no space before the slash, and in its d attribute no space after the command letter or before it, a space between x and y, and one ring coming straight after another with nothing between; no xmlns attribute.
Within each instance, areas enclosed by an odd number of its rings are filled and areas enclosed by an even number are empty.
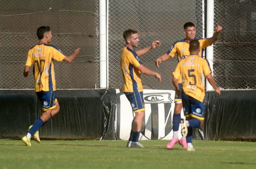
<svg viewBox="0 0 256 169"><path fill-rule="evenodd" d="M214 47L214 77L224 89L256 89L256 1L215 0L223 31Z"/></svg>

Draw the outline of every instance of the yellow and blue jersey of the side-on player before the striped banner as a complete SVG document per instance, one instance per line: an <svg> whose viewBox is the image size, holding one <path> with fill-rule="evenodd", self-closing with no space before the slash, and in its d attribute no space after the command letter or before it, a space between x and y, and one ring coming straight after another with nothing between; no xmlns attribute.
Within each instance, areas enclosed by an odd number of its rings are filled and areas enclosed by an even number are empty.
<svg viewBox="0 0 256 169"><path fill-rule="evenodd" d="M122 49L120 63L124 77L123 91L142 92L141 72L138 69L142 62L136 52L125 46Z"/></svg>

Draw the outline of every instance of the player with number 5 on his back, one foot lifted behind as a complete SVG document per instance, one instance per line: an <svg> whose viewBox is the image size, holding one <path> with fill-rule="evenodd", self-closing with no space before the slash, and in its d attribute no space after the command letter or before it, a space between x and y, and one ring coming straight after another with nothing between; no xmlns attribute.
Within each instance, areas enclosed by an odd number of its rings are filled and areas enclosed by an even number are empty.
<svg viewBox="0 0 256 169"><path fill-rule="evenodd" d="M204 122L205 110L205 77L220 95L220 88L215 84L206 59L198 56L200 46L198 40L190 41L190 55L180 61L173 72L173 85L180 91L178 79L182 78L182 103L186 120L181 119L181 133L186 136L187 151L195 151L192 145L192 127L200 127Z"/></svg>

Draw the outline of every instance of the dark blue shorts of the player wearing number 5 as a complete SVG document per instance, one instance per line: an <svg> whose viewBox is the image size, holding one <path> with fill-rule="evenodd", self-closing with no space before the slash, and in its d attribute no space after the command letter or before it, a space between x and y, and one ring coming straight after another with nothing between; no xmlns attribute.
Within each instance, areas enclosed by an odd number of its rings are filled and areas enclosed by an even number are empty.
<svg viewBox="0 0 256 169"><path fill-rule="evenodd" d="M199 120L204 120L205 100L203 102L199 102L183 92L182 104L185 117L193 117Z"/></svg>

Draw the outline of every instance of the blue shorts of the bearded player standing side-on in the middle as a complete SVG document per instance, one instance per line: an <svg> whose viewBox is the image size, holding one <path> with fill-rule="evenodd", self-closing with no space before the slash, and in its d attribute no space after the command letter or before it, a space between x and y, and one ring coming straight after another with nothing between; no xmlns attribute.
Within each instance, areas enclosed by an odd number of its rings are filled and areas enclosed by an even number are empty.
<svg viewBox="0 0 256 169"><path fill-rule="evenodd" d="M131 103L132 111L134 113L145 111L143 92L124 92L124 94Z"/></svg>

